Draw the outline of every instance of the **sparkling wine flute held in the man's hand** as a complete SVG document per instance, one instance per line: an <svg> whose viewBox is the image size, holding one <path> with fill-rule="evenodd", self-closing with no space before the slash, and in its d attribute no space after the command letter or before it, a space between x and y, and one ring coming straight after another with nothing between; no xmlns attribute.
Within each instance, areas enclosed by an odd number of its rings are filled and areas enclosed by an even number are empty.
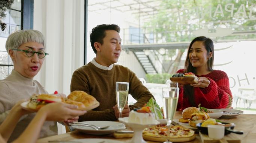
<svg viewBox="0 0 256 143"><path fill-rule="evenodd" d="M122 111L127 101L128 91L128 82L116 82L116 104L119 110L119 118L122 117Z"/></svg>

